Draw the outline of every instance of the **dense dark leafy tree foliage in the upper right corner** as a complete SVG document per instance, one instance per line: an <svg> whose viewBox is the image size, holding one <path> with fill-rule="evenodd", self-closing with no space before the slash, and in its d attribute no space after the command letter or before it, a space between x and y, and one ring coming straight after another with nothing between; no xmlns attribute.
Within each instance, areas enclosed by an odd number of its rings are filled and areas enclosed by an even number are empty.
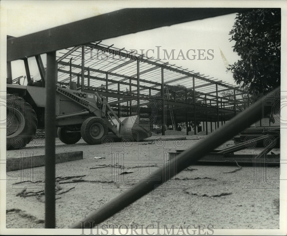
<svg viewBox="0 0 287 236"><path fill-rule="evenodd" d="M280 85L281 11L254 9L238 13L230 41L241 60L229 65L233 78L252 94L267 93Z"/></svg>

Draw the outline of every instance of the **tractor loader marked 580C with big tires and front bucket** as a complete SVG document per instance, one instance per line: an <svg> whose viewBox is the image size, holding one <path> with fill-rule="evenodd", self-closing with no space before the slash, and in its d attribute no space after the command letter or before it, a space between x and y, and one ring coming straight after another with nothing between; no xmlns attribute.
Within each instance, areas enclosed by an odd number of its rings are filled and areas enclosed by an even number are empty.
<svg viewBox="0 0 287 236"><path fill-rule="evenodd" d="M26 146L36 129L44 127L46 99L49 94L43 87L7 83L7 150ZM75 144L81 137L88 144L100 144L108 132L135 141L150 137L139 120L138 115L119 119L106 98L97 92L56 86L57 134L65 144Z"/></svg>

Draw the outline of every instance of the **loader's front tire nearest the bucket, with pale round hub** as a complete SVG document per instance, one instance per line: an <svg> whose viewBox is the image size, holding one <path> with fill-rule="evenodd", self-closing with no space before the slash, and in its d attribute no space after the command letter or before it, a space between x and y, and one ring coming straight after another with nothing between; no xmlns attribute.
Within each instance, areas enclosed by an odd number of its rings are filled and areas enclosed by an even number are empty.
<svg viewBox="0 0 287 236"><path fill-rule="evenodd" d="M100 144L107 134L108 126L106 122L99 117L90 117L82 124L81 135L88 144Z"/></svg>

